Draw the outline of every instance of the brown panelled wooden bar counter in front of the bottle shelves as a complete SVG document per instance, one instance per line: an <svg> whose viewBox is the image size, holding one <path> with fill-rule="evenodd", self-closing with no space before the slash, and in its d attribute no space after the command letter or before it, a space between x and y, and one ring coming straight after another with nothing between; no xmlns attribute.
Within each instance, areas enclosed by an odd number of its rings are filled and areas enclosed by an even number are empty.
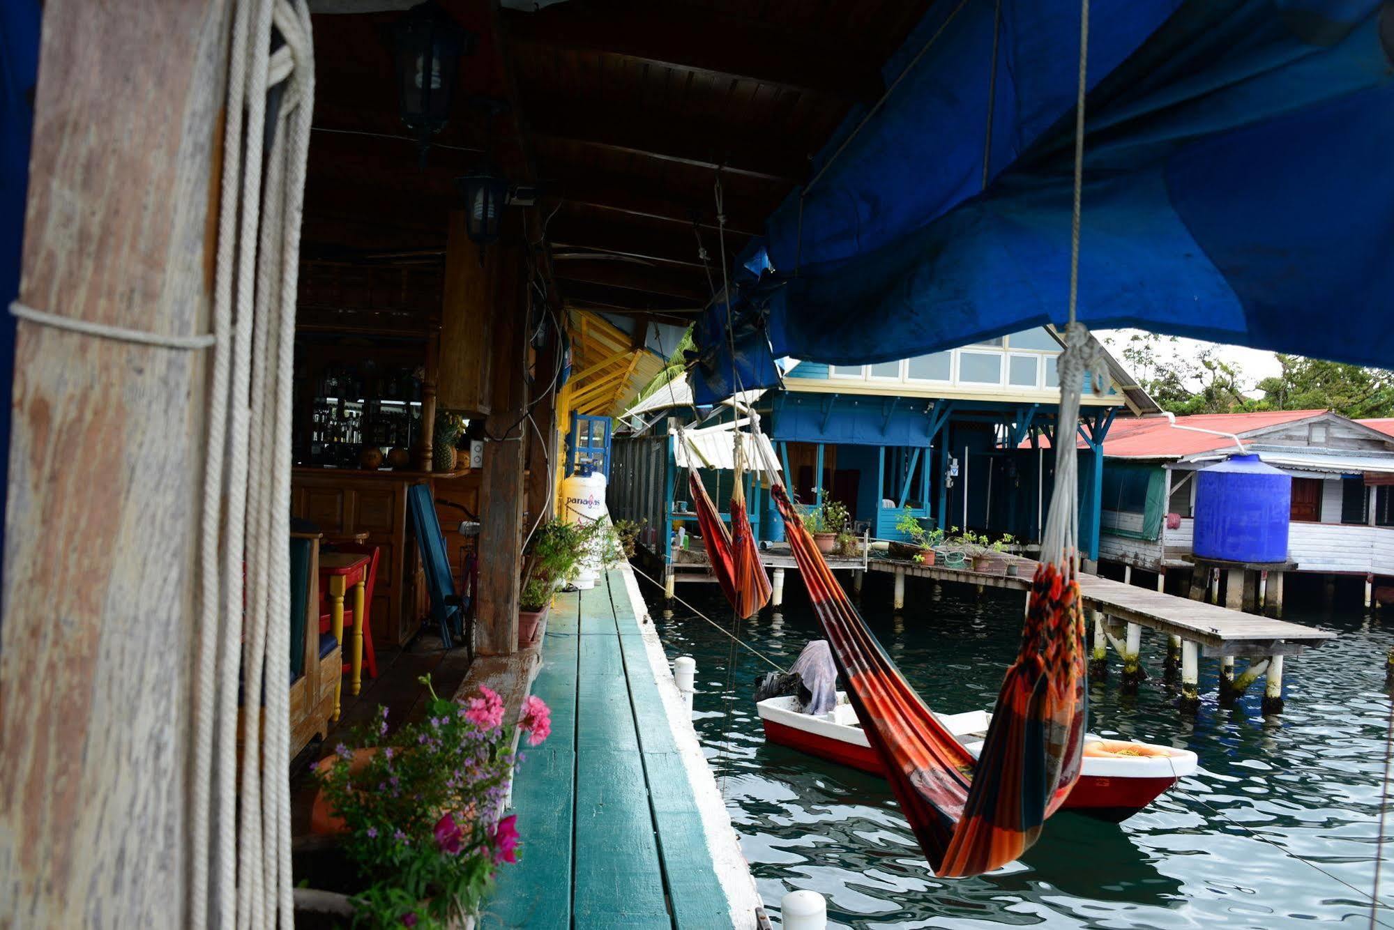
<svg viewBox="0 0 1394 930"><path fill-rule="evenodd" d="M296 466L290 481L291 514L314 523L326 541L367 533L368 542L379 547L368 625L375 643L389 647L406 644L431 609L415 537L407 526L407 488L429 484L438 502L459 503L477 514L480 471L367 471ZM445 531L446 552L459 584L466 540L457 527L466 514L438 503L436 516Z"/></svg>

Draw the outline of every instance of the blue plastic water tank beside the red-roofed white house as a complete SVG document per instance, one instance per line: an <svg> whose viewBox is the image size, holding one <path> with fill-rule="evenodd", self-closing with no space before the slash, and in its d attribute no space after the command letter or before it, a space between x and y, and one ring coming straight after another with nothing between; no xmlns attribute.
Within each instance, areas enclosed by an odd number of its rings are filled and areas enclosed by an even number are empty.
<svg viewBox="0 0 1394 930"><path fill-rule="evenodd" d="M1227 562L1287 562L1292 478L1259 456L1230 456L1196 473L1192 551Z"/></svg>

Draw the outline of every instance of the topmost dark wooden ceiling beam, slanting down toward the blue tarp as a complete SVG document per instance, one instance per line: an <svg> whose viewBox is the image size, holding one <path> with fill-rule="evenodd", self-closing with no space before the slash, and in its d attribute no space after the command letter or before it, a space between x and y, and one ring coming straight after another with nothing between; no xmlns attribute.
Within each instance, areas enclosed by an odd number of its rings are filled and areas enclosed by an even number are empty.
<svg viewBox="0 0 1394 930"><path fill-rule="evenodd" d="M506 18L520 45L619 56L842 103L874 100L884 88L878 68L850 57L845 43L810 42L786 29L712 10L697 13L671 3L597 10L570 3L509 13Z"/></svg>

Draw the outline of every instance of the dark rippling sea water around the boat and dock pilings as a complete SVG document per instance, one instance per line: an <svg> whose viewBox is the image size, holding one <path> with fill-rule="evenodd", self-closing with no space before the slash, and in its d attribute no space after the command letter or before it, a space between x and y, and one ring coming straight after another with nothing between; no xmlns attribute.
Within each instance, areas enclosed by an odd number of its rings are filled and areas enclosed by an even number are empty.
<svg viewBox="0 0 1394 930"><path fill-rule="evenodd" d="M916 580L907 587L910 604L894 616L889 576L867 577L861 611L871 629L931 707L991 707L1016 648L1022 595L977 597L956 584L935 593ZM677 593L729 626L715 586ZM979 878L941 880L920 857L884 781L765 743L751 701L764 662L737 648L732 665L730 640L690 609L679 604L664 618L657 598L651 607L669 657L697 660L697 731L776 920L785 892L813 888L827 897L831 922L849 927L1372 926L1390 714L1383 666L1394 622L1359 609L1289 611L1340 639L1288 660L1287 711L1276 718L1259 711L1262 682L1234 708L1218 707L1214 660L1202 660L1207 697L1199 715L1182 718L1161 682L1164 639L1144 634L1153 678L1139 696L1124 697L1121 665L1111 657L1108 683L1090 694L1090 729L1188 747L1200 771L1124 824L1062 813L1020 862ZM742 639L781 665L817 636L793 572L782 612L767 608L742 626ZM1387 845L1381 897L1394 904L1391 855ZM1394 909L1379 920L1374 926L1394 927Z"/></svg>

